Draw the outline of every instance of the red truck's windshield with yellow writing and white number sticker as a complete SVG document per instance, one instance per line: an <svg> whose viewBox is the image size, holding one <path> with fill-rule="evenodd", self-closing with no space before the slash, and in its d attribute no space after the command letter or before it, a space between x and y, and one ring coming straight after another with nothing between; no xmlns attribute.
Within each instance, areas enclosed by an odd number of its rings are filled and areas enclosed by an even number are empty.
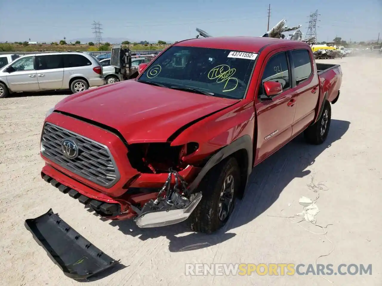
<svg viewBox="0 0 382 286"><path fill-rule="evenodd" d="M242 99L256 56L232 50L173 46L155 58L137 81Z"/></svg>

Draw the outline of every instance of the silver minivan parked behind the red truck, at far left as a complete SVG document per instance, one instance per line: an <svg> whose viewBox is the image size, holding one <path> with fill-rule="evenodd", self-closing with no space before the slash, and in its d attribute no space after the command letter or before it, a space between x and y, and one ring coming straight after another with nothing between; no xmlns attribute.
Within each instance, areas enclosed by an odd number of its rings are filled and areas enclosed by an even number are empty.
<svg viewBox="0 0 382 286"><path fill-rule="evenodd" d="M104 84L102 65L85 53L26 55L0 69L0 98L40 90L71 89L76 93Z"/></svg>

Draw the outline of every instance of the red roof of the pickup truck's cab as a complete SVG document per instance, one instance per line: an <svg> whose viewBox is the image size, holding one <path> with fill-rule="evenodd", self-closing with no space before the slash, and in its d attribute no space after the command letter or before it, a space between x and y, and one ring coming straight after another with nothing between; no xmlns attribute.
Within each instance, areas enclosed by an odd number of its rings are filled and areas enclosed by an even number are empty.
<svg viewBox="0 0 382 286"><path fill-rule="evenodd" d="M217 48L233 51L246 51L249 53L259 53L262 48L270 44L277 44L277 46L280 48L292 45L298 47L309 47L307 43L294 40L248 36L197 38L184 40L175 43L174 45L182 47Z"/></svg>

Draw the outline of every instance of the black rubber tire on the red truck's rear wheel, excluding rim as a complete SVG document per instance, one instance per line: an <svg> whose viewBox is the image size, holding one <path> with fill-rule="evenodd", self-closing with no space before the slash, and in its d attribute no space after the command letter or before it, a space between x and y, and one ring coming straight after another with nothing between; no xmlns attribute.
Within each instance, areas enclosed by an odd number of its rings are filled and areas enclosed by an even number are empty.
<svg viewBox="0 0 382 286"><path fill-rule="evenodd" d="M324 104L325 104L324 109L322 110L320 118L317 120L316 123L309 126L304 131L305 140L309 144L320 145L320 144L324 143L326 138L328 137L330 121L331 121L331 117L332 117L332 109L330 107L329 101L325 101ZM324 122L326 116L327 116L326 128L325 128L324 133L321 134L321 128L322 128L322 125L323 125L323 122Z"/></svg>

